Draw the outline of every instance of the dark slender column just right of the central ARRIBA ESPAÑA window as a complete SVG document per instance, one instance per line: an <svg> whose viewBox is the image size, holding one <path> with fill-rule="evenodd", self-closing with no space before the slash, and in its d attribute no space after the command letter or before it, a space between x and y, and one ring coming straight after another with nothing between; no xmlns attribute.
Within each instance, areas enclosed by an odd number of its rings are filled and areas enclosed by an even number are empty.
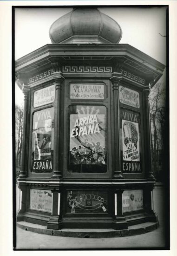
<svg viewBox="0 0 177 256"><path fill-rule="evenodd" d="M113 90L113 101L114 101L114 149L115 149L115 160L114 160L114 175L113 177L116 179L123 178L121 174L120 167L120 141L119 141L119 133L120 133L120 124L119 124L119 101L118 101L118 84L121 80L120 76L112 76L110 78L112 82L112 90Z"/></svg>

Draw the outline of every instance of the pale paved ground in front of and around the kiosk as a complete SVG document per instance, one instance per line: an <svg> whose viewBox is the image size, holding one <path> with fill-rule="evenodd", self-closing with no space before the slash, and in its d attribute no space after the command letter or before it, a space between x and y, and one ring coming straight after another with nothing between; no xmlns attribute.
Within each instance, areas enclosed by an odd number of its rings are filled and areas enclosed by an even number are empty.
<svg viewBox="0 0 177 256"><path fill-rule="evenodd" d="M17 249L137 249L164 248L165 244L165 189L154 189L154 210L160 227L152 232L116 238L71 238L41 235L17 228ZM18 196L18 194L17 194Z"/></svg>

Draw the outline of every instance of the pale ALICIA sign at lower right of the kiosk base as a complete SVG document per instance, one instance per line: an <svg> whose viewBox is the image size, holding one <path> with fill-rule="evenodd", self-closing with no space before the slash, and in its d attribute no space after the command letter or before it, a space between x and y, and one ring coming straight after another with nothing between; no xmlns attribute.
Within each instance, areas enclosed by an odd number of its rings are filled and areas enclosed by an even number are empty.
<svg viewBox="0 0 177 256"><path fill-rule="evenodd" d="M124 190L122 194L123 213L143 209L143 190Z"/></svg>

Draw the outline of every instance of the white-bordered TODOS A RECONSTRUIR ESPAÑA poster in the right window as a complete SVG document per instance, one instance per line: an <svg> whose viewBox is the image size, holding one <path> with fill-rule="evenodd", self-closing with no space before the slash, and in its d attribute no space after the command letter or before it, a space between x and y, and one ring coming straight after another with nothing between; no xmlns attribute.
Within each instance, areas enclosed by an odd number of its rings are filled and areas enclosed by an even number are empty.
<svg viewBox="0 0 177 256"><path fill-rule="evenodd" d="M122 120L123 160L139 162L138 123Z"/></svg>

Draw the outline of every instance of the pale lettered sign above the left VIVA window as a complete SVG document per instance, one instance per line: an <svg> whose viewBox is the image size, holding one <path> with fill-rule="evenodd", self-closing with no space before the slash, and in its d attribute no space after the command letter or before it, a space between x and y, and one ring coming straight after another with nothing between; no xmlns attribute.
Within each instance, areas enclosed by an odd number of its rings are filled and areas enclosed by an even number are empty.
<svg viewBox="0 0 177 256"><path fill-rule="evenodd" d="M34 92L34 108L52 103L55 100L55 86L51 85Z"/></svg>

